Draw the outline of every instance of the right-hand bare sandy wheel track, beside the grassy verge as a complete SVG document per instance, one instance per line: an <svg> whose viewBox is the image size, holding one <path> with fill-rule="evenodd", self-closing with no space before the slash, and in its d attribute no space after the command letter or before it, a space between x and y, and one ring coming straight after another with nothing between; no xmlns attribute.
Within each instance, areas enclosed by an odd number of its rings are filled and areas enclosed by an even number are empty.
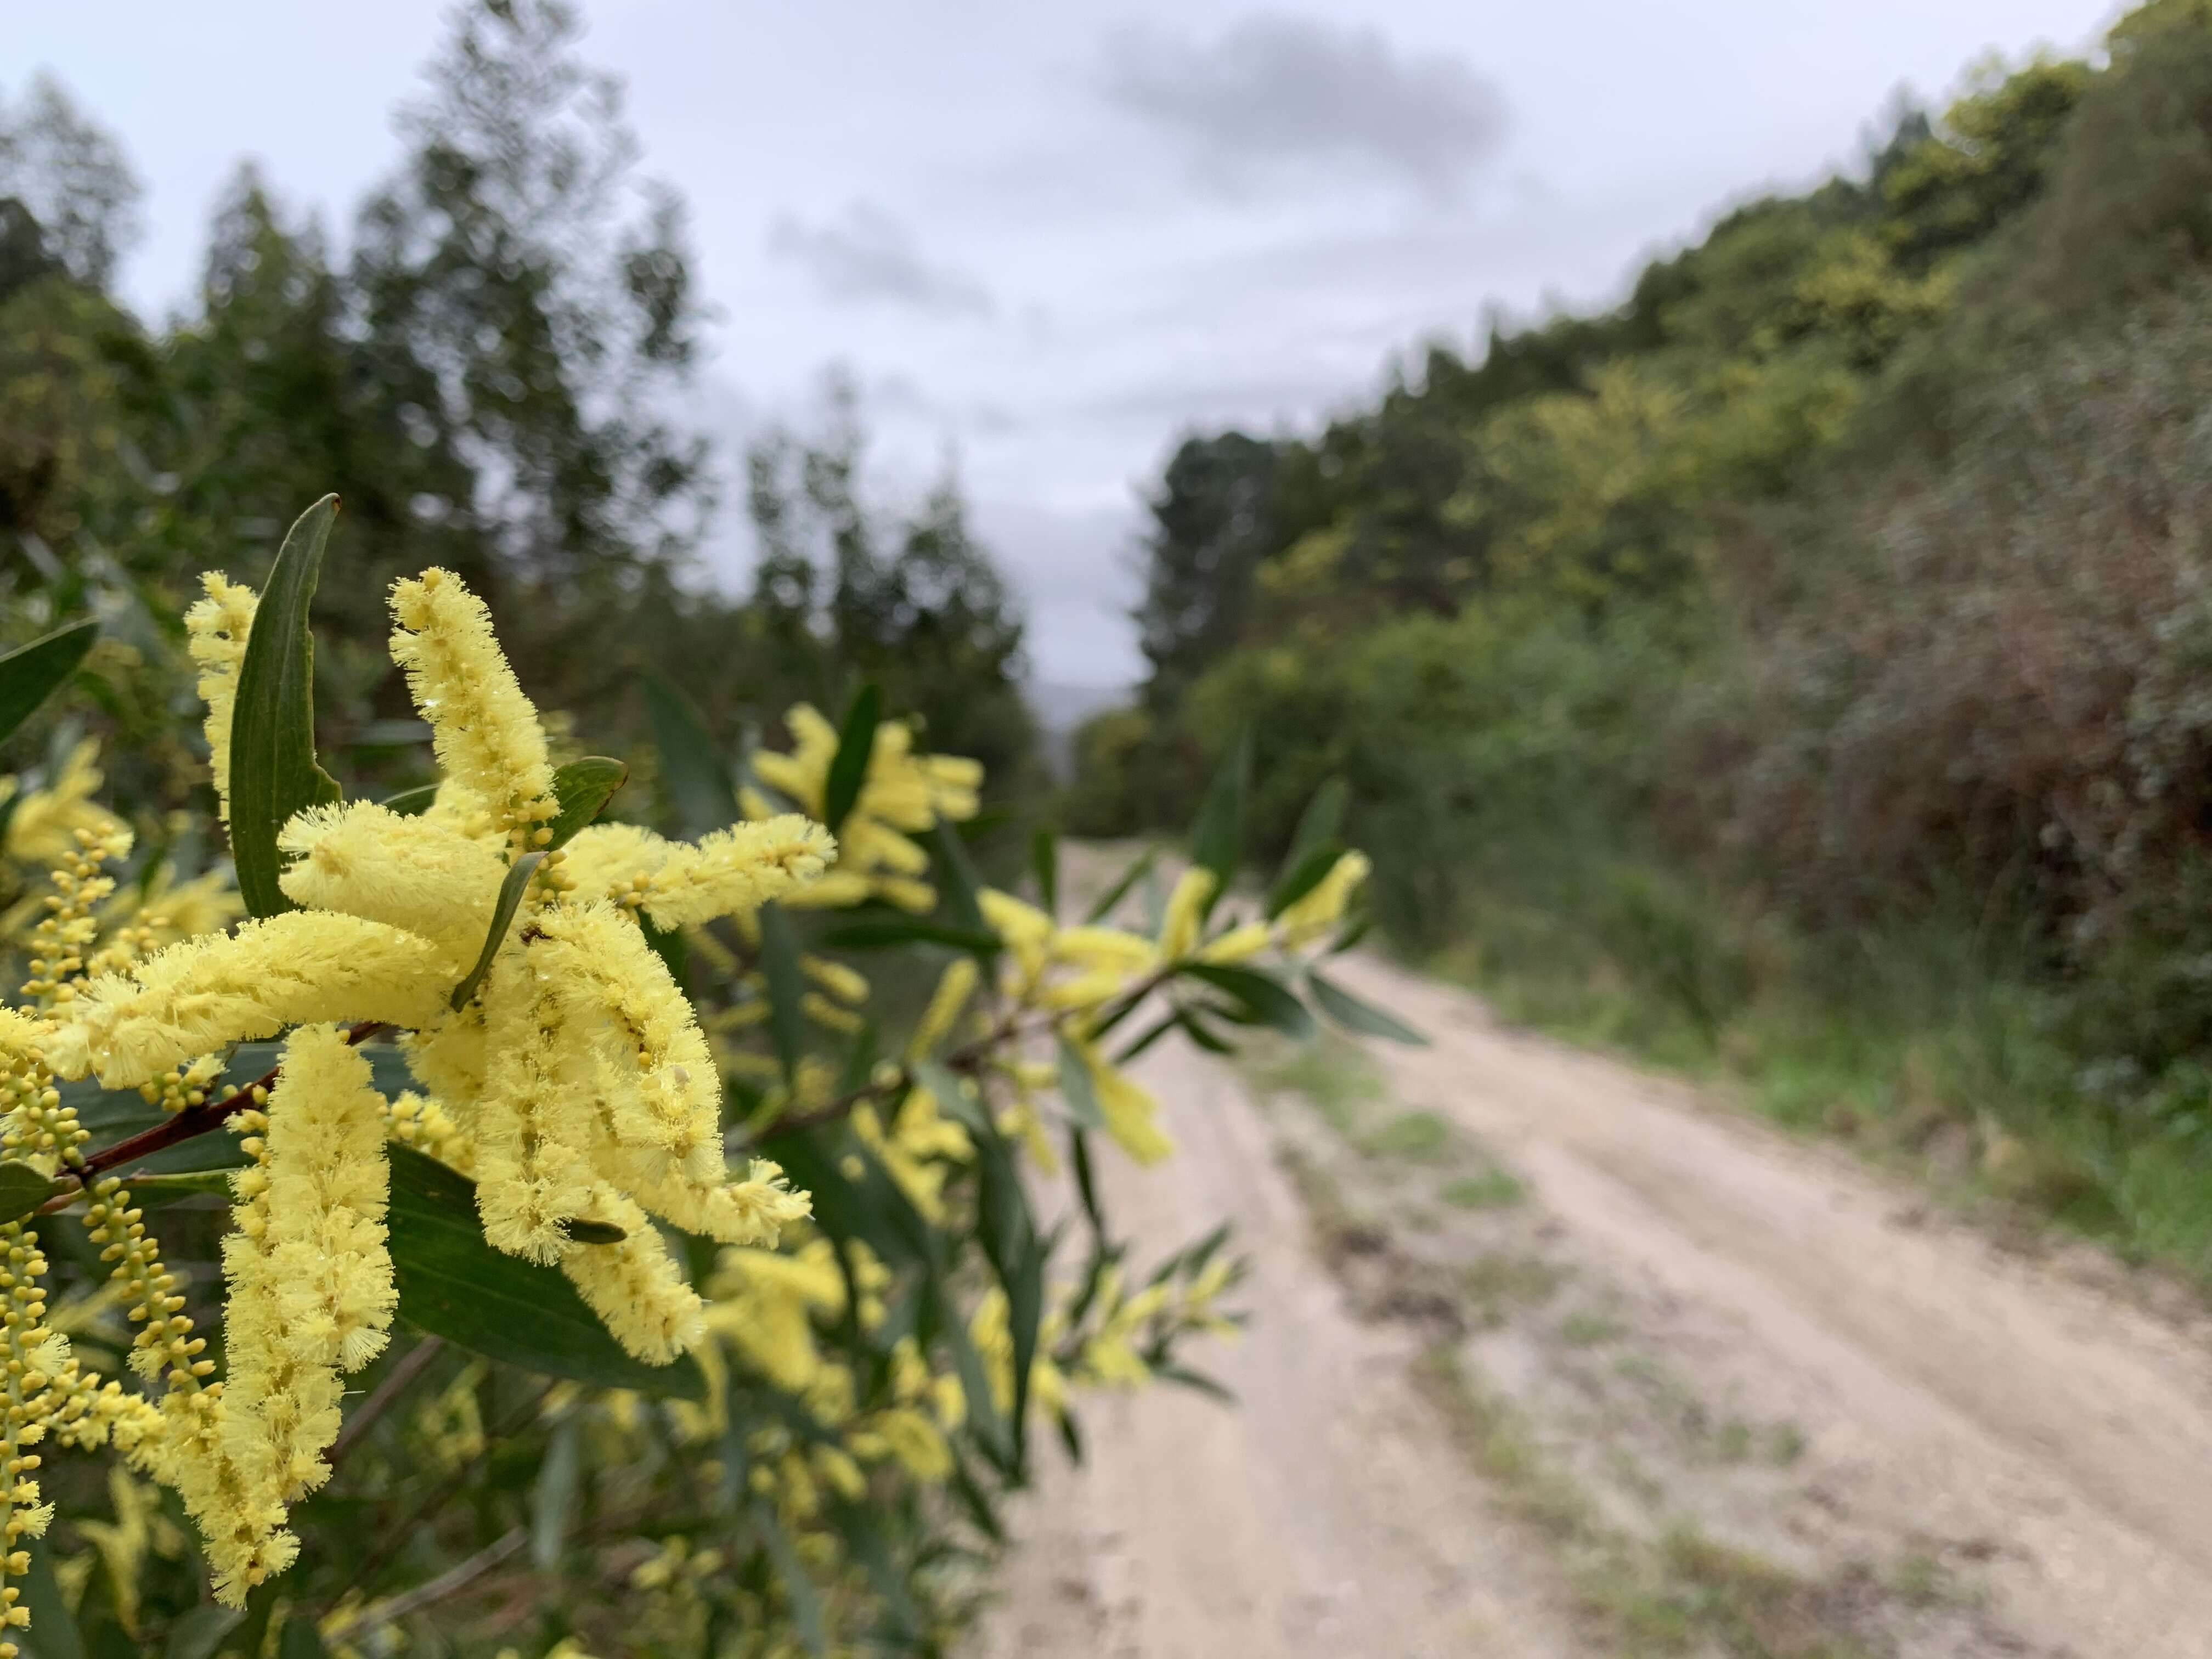
<svg viewBox="0 0 2212 1659"><path fill-rule="evenodd" d="M1407 1099L1513 1161L1619 1270L1714 1316L1739 1378L1825 1447L1829 1502L1971 1540L1995 1613L2084 1655L2212 1655L2212 1349L2006 1254L1840 1152L1502 1031L1376 962L1345 980L1433 1046Z"/></svg>

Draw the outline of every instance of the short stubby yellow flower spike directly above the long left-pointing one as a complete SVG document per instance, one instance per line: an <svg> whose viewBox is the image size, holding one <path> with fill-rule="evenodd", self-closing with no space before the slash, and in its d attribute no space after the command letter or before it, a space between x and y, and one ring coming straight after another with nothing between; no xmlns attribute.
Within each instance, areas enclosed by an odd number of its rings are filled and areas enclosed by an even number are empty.
<svg viewBox="0 0 2212 1659"><path fill-rule="evenodd" d="M307 807L276 836L294 863L279 885L294 905L420 933L458 978L491 929L507 865L480 841L374 801Z"/></svg>

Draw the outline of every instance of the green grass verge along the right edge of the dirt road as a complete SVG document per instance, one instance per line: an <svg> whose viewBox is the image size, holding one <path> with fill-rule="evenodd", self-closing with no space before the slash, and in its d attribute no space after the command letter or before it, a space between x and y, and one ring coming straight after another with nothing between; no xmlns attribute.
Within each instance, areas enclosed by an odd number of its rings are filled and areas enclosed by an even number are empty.
<svg viewBox="0 0 2212 1659"><path fill-rule="evenodd" d="M1838 962L1759 918L1688 900L1666 914L1637 891L1632 929L1469 905L1427 967L1515 1024L1721 1084L1949 1201L2212 1290L2212 1113L2106 1097L2026 971L1940 922L1869 931Z"/></svg>

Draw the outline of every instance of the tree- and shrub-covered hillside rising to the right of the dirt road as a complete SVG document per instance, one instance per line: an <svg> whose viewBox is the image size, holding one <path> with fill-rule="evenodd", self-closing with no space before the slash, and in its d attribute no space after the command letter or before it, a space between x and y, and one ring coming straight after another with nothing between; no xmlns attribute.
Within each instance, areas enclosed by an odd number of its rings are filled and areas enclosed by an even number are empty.
<svg viewBox="0 0 2212 1659"><path fill-rule="evenodd" d="M2212 1276L2212 9L1590 316L1192 436L1082 830L1352 783L1396 940Z"/></svg>

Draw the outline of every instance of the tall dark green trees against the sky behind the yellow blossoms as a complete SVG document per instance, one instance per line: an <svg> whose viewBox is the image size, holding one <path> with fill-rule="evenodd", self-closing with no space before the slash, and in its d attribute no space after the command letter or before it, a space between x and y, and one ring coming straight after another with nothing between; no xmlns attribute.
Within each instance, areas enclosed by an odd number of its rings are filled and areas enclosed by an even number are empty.
<svg viewBox="0 0 2212 1659"><path fill-rule="evenodd" d="M821 431L763 436L734 480L681 427L701 327L684 204L639 177L619 86L575 35L557 4L462 9L343 246L246 164L199 292L159 325L113 296L128 159L58 84L0 86L0 602L9 639L84 604L133 613L108 635L135 653L104 646L108 695L73 710L126 728L131 792L197 776L148 768L186 743L184 584L259 580L325 491L347 580L319 602L316 706L358 765L407 765L383 593L440 564L580 741L626 748L650 657L728 739L876 679L931 745L1022 776L1022 622L953 480L872 511L838 387ZM695 557L732 484L763 551L748 595Z"/></svg>

